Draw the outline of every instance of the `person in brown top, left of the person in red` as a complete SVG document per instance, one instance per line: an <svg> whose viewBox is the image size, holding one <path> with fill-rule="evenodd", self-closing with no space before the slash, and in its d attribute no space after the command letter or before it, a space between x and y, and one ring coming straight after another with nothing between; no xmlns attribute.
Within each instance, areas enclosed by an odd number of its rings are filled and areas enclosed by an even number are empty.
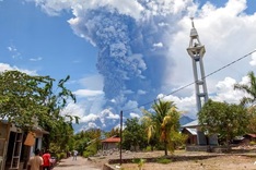
<svg viewBox="0 0 256 170"><path fill-rule="evenodd" d="M43 170L43 158L40 157L40 150L35 150L35 156L31 157L27 162L27 170Z"/></svg>

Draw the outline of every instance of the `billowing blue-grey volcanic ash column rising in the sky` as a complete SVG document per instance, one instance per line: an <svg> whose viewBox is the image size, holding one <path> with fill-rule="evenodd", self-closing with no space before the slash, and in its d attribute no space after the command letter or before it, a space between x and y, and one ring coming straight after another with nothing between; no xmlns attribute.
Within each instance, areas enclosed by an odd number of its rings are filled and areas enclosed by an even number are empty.
<svg viewBox="0 0 256 170"><path fill-rule="evenodd" d="M96 68L104 77L107 105L120 109L128 100L142 104L155 98L165 69L174 65L167 62L166 37L176 29L170 22L179 19L166 14L137 20L108 7L75 13L69 20L74 33L98 48Z"/></svg>

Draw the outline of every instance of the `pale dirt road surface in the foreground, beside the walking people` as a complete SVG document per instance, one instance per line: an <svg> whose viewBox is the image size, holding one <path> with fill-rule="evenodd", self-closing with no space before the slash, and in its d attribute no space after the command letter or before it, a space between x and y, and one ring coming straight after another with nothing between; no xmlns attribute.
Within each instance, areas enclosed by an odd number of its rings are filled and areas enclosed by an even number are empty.
<svg viewBox="0 0 256 170"><path fill-rule="evenodd" d="M62 159L58 166L54 168L54 170L101 170L101 168L96 168L92 165L86 158L78 157L77 160L73 160L72 157L67 159Z"/></svg>

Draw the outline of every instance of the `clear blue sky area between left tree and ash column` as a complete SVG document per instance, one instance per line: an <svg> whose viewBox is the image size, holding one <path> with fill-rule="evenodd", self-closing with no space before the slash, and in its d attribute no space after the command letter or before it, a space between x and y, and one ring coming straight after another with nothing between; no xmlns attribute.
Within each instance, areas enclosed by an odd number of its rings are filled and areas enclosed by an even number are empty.
<svg viewBox="0 0 256 170"><path fill-rule="evenodd" d="M96 73L97 49L73 34L69 17L49 16L32 2L0 2L1 62L57 80Z"/></svg>

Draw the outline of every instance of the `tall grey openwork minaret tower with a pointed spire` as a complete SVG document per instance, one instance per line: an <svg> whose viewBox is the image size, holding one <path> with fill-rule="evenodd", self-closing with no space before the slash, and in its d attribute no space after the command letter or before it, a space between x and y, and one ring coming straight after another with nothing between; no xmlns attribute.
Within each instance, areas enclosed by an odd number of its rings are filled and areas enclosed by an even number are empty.
<svg viewBox="0 0 256 170"><path fill-rule="evenodd" d="M196 88L196 100L197 109L201 110L201 107L208 100L207 85L205 78L205 69L202 57L206 53L205 46L201 45L197 29L194 25L194 19L191 17L191 31L190 31L190 41L189 47L187 48L188 54L191 57L193 61L193 71Z"/></svg>

